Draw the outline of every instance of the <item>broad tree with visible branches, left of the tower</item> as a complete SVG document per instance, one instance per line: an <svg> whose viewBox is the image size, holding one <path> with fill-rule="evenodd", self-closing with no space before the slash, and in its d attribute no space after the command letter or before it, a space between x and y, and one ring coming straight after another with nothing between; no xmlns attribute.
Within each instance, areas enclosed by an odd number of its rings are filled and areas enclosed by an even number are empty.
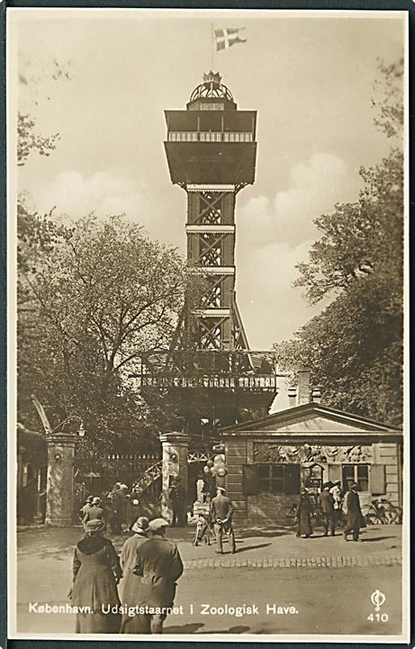
<svg viewBox="0 0 415 649"><path fill-rule="evenodd" d="M129 376L141 352L168 349L183 306L185 264L176 250L120 216L103 223L89 215L59 228L26 214L24 223L21 421L32 416L29 395L36 391L55 425L82 416L88 452L151 446L149 407Z"/></svg>

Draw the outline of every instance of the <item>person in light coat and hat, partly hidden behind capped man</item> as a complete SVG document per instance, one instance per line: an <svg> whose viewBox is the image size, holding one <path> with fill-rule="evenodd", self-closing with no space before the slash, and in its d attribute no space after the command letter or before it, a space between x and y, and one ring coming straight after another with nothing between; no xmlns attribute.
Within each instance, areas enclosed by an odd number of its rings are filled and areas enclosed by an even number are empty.
<svg viewBox="0 0 415 649"><path fill-rule="evenodd" d="M137 518L131 531L134 535L127 539L122 546L121 567L122 567L122 605L123 607L135 607L138 602L138 589L140 586L140 577L132 571L137 563L137 549L148 539L147 530L149 528L149 518L140 516ZM137 626L136 616L122 614L121 633L137 634L141 633L140 627Z"/></svg>

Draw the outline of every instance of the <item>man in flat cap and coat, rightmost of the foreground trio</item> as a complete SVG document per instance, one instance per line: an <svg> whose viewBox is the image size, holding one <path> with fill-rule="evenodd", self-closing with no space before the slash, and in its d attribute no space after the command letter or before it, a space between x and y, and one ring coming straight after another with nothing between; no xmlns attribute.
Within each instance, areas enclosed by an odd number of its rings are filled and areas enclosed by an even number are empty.
<svg viewBox="0 0 415 649"><path fill-rule="evenodd" d="M140 607L147 605L158 608L161 612L136 615L136 633L163 633L166 609L173 606L176 580L183 574L183 562L177 546L165 538L167 527L164 518L150 521L149 540L137 549L134 573L141 579L136 603Z"/></svg>

